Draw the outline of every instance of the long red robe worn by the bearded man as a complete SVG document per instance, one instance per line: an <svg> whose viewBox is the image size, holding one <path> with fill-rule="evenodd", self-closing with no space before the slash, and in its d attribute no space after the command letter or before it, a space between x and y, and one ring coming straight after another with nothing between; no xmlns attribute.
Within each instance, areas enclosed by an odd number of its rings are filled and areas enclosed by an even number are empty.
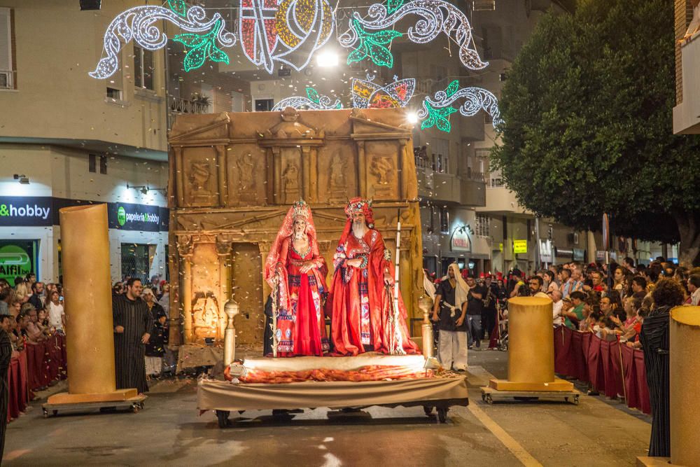
<svg viewBox="0 0 700 467"><path fill-rule="evenodd" d="M366 257L365 267L352 267L347 260ZM384 240L377 230L367 230L362 239L352 232L335 254L333 274L325 302L331 316L332 340L338 355L362 354L379 351L388 354L391 342L391 326L388 316L393 302L384 285L384 270L393 277L393 265L384 256ZM363 264L364 265L364 264ZM388 290L393 293L393 286ZM398 338L407 354L418 354L406 326L406 308L399 295Z"/></svg>

